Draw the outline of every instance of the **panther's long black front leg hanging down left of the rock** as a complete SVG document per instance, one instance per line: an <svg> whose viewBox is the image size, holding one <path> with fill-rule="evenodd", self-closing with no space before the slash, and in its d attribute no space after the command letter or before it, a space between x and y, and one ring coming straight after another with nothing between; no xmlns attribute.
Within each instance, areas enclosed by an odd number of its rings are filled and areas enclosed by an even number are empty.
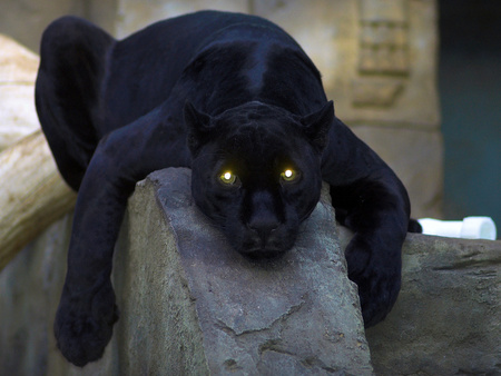
<svg viewBox="0 0 501 376"><path fill-rule="evenodd" d="M136 181L157 169L189 167L185 137L168 113L155 109L105 136L81 182L55 321L59 349L78 366L101 357L118 319L112 255Z"/></svg>

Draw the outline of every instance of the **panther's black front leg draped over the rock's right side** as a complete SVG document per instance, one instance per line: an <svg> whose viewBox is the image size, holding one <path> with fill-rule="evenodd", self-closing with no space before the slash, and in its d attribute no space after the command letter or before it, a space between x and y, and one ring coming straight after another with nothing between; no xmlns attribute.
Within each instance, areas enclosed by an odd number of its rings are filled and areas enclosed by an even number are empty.
<svg viewBox="0 0 501 376"><path fill-rule="evenodd" d="M402 244L410 226L407 192L396 175L335 119L322 160L337 219L353 232L345 256L358 286L366 327L384 319L401 286Z"/></svg>

